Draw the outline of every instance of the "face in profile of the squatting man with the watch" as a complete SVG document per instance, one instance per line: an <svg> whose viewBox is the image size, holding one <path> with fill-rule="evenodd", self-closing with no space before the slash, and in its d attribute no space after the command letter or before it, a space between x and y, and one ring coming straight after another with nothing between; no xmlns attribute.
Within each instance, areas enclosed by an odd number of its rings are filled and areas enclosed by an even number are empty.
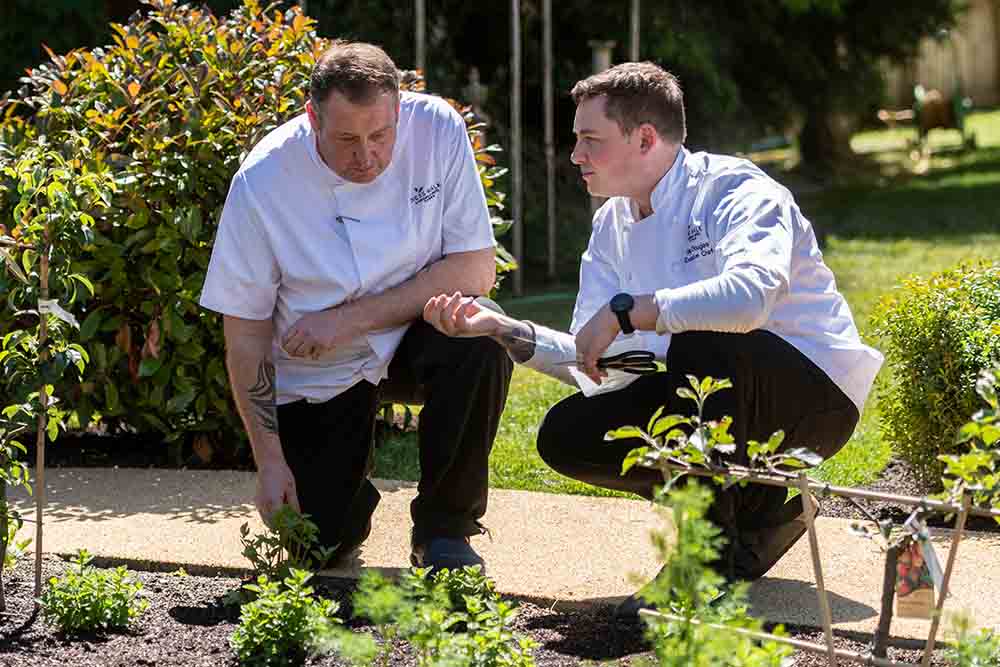
<svg viewBox="0 0 1000 667"><path fill-rule="evenodd" d="M604 114L607 97L580 102L573 120L576 146L570 161L580 167L587 191L598 197L630 196L632 173L639 159L638 133L626 137L618 123Z"/></svg>

